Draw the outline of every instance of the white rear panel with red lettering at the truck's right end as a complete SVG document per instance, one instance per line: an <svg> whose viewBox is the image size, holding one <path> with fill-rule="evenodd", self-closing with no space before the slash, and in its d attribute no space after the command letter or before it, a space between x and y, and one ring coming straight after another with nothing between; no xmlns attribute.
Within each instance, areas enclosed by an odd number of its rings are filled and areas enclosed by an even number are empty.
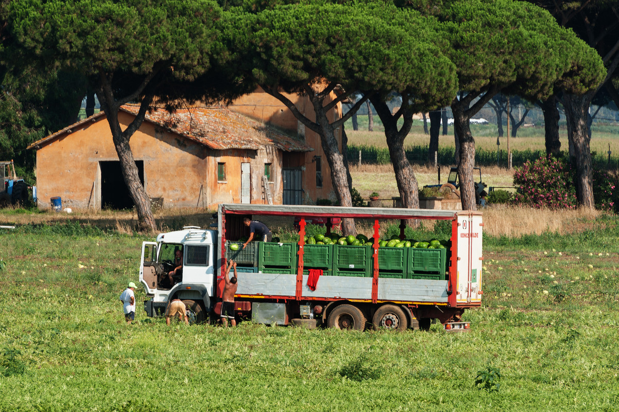
<svg viewBox="0 0 619 412"><path fill-rule="evenodd" d="M482 215L458 215L457 303L482 300Z"/></svg>

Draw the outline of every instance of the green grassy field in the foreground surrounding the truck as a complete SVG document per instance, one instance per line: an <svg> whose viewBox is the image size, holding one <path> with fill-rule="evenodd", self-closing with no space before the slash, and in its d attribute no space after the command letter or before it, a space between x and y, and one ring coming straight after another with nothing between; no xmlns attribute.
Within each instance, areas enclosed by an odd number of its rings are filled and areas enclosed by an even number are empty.
<svg viewBox="0 0 619 412"><path fill-rule="evenodd" d="M0 232L0 410L616 410L619 218L583 223L485 236L483 306L461 334L167 327L141 290L128 327L118 296L145 238ZM487 371L497 390L476 387Z"/></svg>

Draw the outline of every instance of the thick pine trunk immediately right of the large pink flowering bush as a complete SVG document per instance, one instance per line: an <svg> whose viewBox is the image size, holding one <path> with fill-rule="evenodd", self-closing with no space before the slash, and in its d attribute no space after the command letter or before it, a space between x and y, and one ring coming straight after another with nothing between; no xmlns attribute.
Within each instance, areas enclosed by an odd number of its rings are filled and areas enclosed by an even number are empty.
<svg viewBox="0 0 619 412"><path fill-rule="evenodd" d="M587 131L587 116L591 103L590 93L582 96L565 94L565 111L569 113L568 122L571 129L576 163L576 199L584 208L594 208L593 197L593 166L591 163L591 149Z"/></svg>

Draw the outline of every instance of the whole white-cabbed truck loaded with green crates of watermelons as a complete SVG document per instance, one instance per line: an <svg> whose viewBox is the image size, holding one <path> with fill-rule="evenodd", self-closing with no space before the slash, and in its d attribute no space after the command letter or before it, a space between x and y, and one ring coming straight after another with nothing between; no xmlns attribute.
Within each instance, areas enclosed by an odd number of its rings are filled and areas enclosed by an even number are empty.
<svg viewBox="0 0 619 412"><path fill-rule="evenodd" d="M299 241L240 244L243 218L298 218ZM306 220L369 220L374 236L366 246L306 244ZM451 237L441 249L379 246L381 225L448 220ZM430 328L436 319L446 330L468 330L465 309L482 299L482 213L462 210L332 207L311 205L220 204L217 229L186 226L142 244L140 281L149 316L162 315L171 299L181 299L190 322L219 319L224 273L237 262L236 316L259 324L323 325L364 330ZM236 249L236 250L235 250ZM172 281L175 252L183 270ZM232 276L232 273L231 273ZM309 280L309 285L308 285Z"/></svg>

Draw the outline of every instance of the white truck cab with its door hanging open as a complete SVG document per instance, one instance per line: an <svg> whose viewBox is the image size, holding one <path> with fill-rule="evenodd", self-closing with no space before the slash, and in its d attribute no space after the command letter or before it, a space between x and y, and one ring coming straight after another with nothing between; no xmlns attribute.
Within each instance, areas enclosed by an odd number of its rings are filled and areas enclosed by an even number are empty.
<svg viewBox="0 0 619 412"><path fill-rule="evenodd" d="M140 283L151 298L144 301L149 316L163 314L168 301L181 299L191 322L207 319L215 294L216 240L217 231L185 226L159 234L156 242L142 242ZM174 274L176 251L181 252L182 268Z"/></svg>

